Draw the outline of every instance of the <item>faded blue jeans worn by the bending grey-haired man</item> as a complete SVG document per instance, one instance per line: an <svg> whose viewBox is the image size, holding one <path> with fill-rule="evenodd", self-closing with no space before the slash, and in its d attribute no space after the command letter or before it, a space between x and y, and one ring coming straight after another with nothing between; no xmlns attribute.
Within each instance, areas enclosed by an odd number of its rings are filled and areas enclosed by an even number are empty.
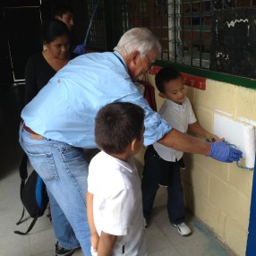
<svg viewBox="0 0 256 256"><path fill-rule="evenodd" d="M30 164L47 185L53 227L58 244L90 254L90 227L86 213L88 162L84 150L64 142L33 139L20 128L20 143Z"/></svg>

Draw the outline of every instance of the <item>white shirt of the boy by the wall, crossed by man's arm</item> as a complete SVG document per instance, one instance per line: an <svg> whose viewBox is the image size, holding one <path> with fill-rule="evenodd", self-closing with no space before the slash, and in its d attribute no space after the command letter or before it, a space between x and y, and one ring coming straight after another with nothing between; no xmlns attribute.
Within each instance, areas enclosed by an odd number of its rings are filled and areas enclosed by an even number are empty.
<svg viewBox="0 0 256 256"><path fill-rule="evenodd" d="M193 113L192 105L189 98L185 98L182 105L176 104L170 99L166 99L158 112L173 128L179 132L187 132L188 125L197 122ZM156 142L153 144L158 155L166 161L175 162L183 157L183 152L175 149L167 148L166 146Z"/></svg>

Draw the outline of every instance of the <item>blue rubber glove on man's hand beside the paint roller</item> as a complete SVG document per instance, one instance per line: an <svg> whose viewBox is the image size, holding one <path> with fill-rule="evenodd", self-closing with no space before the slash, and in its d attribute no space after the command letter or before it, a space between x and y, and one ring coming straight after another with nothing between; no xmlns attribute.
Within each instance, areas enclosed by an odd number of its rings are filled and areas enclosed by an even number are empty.
<svg viewBox="0 0 256 256"><path fill-rule="evenodd" d="M239 161L242 156L242 151L229 147L226 142L220 141L211 143L211 149L208 157L221 162L232 163L234 161Z"/></svg>

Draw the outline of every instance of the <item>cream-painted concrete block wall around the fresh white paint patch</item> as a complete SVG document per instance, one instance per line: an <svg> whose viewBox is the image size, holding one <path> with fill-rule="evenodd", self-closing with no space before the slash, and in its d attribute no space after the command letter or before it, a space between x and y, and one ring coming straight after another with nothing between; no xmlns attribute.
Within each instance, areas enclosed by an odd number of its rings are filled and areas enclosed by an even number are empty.
<svg viewBox="0 0 256 256"><path fill-rule="evenodd" d="M155 85L154 76L149 75L149 81ZM211 80L207 80L206 90L192 87L186 90L199 123L209 132L213 128L213 115L219 111L234 121L242 119L252 124L256 120L256 90ZM156 99L159 108L163 100L158 97L157 89ZM141 166L143 152L137 157ZM235 255L244 256L253 172L235 163L226 164L201 155L185 154L185 164L182 177L186 208Z"/></svg>

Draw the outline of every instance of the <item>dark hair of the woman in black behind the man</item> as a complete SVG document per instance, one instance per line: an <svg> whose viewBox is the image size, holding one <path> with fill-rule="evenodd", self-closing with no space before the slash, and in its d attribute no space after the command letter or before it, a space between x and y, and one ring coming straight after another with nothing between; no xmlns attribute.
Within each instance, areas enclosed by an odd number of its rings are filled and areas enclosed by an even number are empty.
<svg viewBox="0 0 256 256"><path fill-rule="evenodd" d="M70 38L70 32L63 21L46 21L43 26L42 38L46 43L51 43L55 38L67 35Z"/></svg>

